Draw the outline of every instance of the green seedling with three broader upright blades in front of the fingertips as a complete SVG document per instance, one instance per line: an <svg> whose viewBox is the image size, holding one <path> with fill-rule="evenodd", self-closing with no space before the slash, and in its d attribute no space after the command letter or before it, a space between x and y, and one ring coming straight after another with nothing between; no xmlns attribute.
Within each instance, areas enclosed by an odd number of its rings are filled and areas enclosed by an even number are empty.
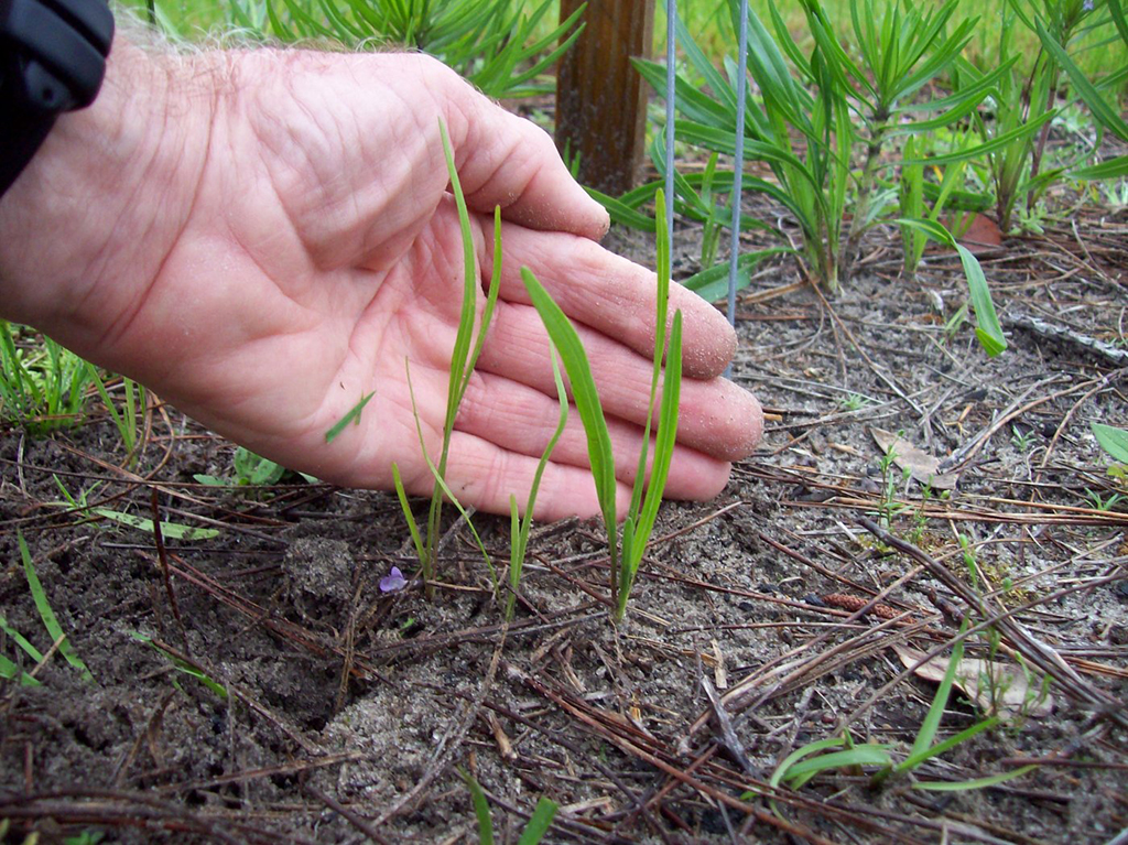
<svg viewBox="0 0 1128 845"><path fill-rule="evenodd" d="M661 191L656 194L659 220L666 219L666 199ZM591 463L591 474L596 482L596 494L599 499L603 525L607 529L607 542L610 554L610 588L611 602L616 608L616 618L622 619L626 613L627 598L634 584L638 565L650 540L658 517L658 508L662 501L670 460L673 456L673 443L678 429L678 404L681 390L681 311L673 315L669 329L669 350L667 351L667 317L670 294L670 244L666 227L658 229L658 296L654 332L654 367L651 375L650 405L646 411L646 424L643 429L642 449L638 455L638 470L635 475L631 504L623 525L622 554L618 539L618 519L616 513L615 458L611 454L611 439L607 429L596 382L591 376L591 366L587 352L580 342L580 336L548 292L536 276L527 269L521 270L525 287L529 291L534 307L548 331L548 336L559 352L561 360L567 371L572 386L575 407L583 421L588 437L588 457ZM647 482L647 451L653 423L654 403L658 395L659 379L662 377L662 359L666 353L666 373L662 378L662 398L658 417L658 430L654 441L653 465L650 467ZM645 490L645 495L644 495Z"/></svg>

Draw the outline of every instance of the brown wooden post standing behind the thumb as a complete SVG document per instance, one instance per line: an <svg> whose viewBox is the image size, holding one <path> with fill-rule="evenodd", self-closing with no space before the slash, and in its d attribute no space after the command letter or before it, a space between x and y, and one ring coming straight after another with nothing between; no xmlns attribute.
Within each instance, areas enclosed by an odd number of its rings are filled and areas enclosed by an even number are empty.
<svg viewBox="0 0 1128 845"><path fill-rule="evenodd" d="M561 19L582 0L561 0ZM649 56L654 0L589 0L587 27L561 60L556 146L580 156L580 181L617 196L634 186L646 135L646 86L631 56Z"/></svg>

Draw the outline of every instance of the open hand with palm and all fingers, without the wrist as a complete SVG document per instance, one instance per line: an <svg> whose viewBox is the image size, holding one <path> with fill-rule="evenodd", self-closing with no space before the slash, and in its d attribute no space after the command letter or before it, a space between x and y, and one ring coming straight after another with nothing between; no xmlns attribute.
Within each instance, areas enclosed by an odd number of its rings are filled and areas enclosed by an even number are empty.
<svg viewBox="0 0 1128 845"><path fill-rule="evenodd" d="M523 501L555 424L547 342L526 305L522 264L555 273L543 281L555 296L571 292L565 309L592 326L583 332L603 353L597 380L619 417L618 474L629 481L649 388L649 362L635 350L652 336L652 285L641 269L578 237L599 234L601 211L547 139L418 56L358 56L351 67L312 54L298 61L305 67L276 79L247 69L249 82L227 112L221 102L192 211L120 337L126 359L131 346L138 352L134 375L291 468L387 488L395 460L408 490L430 491L405 361L435 457L464 272L438 140L442 117L486 272L492 220L483 212L502 202L512 221L497 325L456 426L448 481L467 503L505 511L510 493ZM371 85L356 85L361 73ZM460 108L450 108L455 100ZM716 315L681 293L687 371L700 381L685 391L689 447L679 450L669 491L697 498L723 485L726 460L755 442L759 421L750 396L712 378L731 354ZM157 338L167 354L147 359ZM326 443L326 431L371 391L359 424ZM543 491L539 517L597 510L574 415Z"/></svg>

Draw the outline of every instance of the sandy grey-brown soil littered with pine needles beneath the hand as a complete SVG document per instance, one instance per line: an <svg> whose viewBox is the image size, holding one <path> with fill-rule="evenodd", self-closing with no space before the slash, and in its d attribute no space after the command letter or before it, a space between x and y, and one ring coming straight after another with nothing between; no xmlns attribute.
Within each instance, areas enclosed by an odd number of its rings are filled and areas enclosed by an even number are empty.
<svg viewBox="0 0 1128 845"><path fill-rule="evenodd" d="M679 229L682 276L699 235ZM1094 499L1128 491L1090 422L1128 425L1126 236L1122 213L1075 212L981 250L1011 344L995 359L968 324L945 333L967 297L954 254L906 280L879 230L826 296L790 258L761 266L733 378L772 414L764 442L719 500L663 507L619 626L594 523L536 529L506 628L464 526L433 600L417 583L384 593L393 565L415 570L393 496L203 487L193 474L230 474L233 447L174 408L131 470L105 419L0 433L0 614L50 652L36 667L0 633L41 683L0 683L0 840L477 842L461 767L511 843L540 795L562 807L550 843L1121 842L1128 510ZM645 239L613 241L649 261ZM948 498L899 468L887 496L874 428L948 459ZM91 504L151 516L156 492L164 519L222 530L166 538L161 556L151 534L61 507L53 475L100 481ZM508 523L474 521L505 560ZM51 651L17 531L92 681ZM994 618L968 658L1025 666L1025 706L881 785L835 768L769 786L847 727L902 759L936 684L895 646L946 655L964 616ZM940 738L985 706L953 693ZM918 789L1031 762L980 790Z"/></svg>

